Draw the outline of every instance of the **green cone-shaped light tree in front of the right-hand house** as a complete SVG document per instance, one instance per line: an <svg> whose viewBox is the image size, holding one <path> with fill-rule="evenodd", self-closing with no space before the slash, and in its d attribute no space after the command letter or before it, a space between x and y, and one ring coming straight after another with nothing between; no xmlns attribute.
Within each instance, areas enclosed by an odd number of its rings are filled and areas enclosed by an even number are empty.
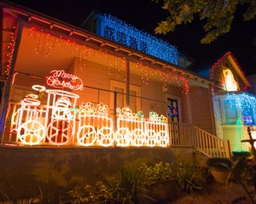
<svg viewBox="0 0 256 204"><path fill-rule="evenodd" d="M248 151L248 145L246 143L241 143L242 139L246 138L246 131L244 130L242 124L242 116L238 116L237 124L235 127L235 135L234 135L234 151Z"/></svg>

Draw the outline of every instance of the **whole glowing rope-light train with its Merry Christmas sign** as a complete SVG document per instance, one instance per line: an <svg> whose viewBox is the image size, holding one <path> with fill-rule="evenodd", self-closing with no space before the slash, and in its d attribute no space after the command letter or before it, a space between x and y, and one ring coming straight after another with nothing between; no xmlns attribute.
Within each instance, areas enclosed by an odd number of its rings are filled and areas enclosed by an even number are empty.
<svg viewBox="0 0 256 204"><path fill-rule="evenodd" d="M41 85L32 88L38 94L28 94L21 107L14 112L12 131L17 131L17 143L23 145L50 144L82 147L166 147L169 145L168 124L165 116L150 112L133 113L130 108L117 108L116 128L106 104L82 103L71 90L82 90L82 80L64 70L51 71L46 77L46 89ZM47 94L46 105L41 103L42 92Z"/></svg>

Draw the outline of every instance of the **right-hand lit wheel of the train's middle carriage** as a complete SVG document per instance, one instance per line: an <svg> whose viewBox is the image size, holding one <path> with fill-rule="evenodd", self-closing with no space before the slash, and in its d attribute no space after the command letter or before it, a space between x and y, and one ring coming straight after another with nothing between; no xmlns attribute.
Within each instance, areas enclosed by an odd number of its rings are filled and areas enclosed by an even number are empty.
<svg viewBox="0 0 256 204"><path fill-rule="evenodd" d="M114 131L104 127L98 130L98 144L103 147L111 146L114 143Z"/></svg>

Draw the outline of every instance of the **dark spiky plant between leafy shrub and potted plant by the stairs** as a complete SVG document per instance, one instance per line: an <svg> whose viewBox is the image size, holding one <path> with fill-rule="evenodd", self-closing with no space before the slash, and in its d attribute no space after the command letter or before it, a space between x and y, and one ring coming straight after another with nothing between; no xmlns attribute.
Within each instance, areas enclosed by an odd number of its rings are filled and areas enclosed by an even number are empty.
<svg viewBox="0 0 256 204"><path fill-rule="evenodd" d="M179 190L192 193L194 190L204 190L206 178L198 167L180 163L173 168L174 179L178 180Z"/></svg>

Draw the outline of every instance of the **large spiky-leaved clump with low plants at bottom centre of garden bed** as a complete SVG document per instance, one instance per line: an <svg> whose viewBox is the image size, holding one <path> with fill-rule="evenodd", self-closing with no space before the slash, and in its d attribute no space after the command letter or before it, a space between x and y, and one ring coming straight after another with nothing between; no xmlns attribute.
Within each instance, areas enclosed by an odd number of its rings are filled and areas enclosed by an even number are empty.
<svg viewBox="0 0 256 204"><path fill-rule="evenodd" d="M97 182L95 188L86 185L69 193L74 198L73 203L144 203L149 185L142 167L127 166L121 167L106 184Z"/></svg>

